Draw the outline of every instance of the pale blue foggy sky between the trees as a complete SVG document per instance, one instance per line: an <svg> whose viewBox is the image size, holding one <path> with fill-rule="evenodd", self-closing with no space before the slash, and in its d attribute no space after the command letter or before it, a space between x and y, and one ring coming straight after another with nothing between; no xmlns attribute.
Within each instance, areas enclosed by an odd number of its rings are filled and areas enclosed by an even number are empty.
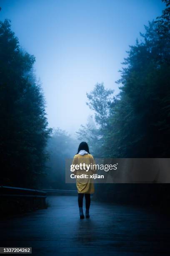
<svg viewBox="0 0 170 256"><path fill-rule="evenodd" d="M0 0L20 46L36 58L51 128L74 135L92 110L86 92L103 82L119 92L129 45L161 15L161 0Z"/></svg>

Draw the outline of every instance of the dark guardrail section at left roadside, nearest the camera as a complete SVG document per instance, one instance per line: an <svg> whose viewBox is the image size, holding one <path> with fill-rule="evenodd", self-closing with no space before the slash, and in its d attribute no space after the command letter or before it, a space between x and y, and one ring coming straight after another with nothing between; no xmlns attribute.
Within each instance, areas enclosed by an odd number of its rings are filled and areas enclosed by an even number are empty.
<svg viewBox="0 0 170 256"><path fill-rule="evenodd" d="M0 186L0 214L28 212L46 208L47 193L37 189Z"/></svg>

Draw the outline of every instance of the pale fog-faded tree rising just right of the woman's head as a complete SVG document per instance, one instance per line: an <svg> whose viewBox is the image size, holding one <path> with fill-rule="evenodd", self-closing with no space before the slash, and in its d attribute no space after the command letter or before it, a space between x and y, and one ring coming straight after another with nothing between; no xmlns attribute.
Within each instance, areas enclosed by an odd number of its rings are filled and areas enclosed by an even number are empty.
<svg viewBox="0 0 170 256"><path fill-rule="evenodd" d="M87 141L90 145L90 153L95 157L101 157L103 137L107 126L107 118L111 104L111 97L114 90L105 89L103 83L97 83L94 90L87 93L88 102L86 103L91 110L95 111L95 121L99 128L95 125L92 116L87 120L86 125L81 125L77 132L78 139Z"/></svg>

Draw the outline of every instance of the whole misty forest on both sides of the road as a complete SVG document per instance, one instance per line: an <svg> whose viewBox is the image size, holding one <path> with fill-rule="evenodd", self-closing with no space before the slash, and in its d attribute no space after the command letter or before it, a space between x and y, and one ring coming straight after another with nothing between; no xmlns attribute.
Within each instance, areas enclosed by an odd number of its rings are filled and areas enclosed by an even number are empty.
<svg viewBox="0 0 170 256"><path fill-rule="evenodd" d="M65 184L65 158L77 153L80 141L96 158L169 158L170 1L163 2L162 15L129 47L116 82L119 94L103 83L87 92L94 120L81 125L77 139L49 128L35 56L20 47L10 21L0 21L1 185L75 189ZM149 202L160 203L170 191L168 184L96 185L96 200L112 202L144 203L150 195Z"/></svg>

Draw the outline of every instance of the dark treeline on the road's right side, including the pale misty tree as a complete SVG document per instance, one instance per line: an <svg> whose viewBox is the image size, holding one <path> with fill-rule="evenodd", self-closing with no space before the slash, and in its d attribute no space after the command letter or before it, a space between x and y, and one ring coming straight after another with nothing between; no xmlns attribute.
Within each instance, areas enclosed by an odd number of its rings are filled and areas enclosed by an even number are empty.
<svg viewBox="0 0 170 256"><path fill-rule="evenodd" d="M123 62L120 93L104 84L87 93L99 128L82 126L92 153L104 158L169 158L170 156L170 1L163 15L145 26ZM87 130L90 130L87 132ZM166 184L97 184L100 199L160 202L169 198ZM101 193L102 192L102 193ZM143 197L143 198L142 198ZM163 198L164 197L164 198ZM166 200L165 200L166 201Z"/></svg>

